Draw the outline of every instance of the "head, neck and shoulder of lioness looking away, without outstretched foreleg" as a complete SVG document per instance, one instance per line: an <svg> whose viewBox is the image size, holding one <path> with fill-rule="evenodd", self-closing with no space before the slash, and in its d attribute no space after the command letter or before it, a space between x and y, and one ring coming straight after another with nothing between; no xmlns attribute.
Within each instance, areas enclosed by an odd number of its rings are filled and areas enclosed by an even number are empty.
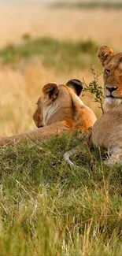
<svg viewBox="0 0 122 256"><path fill-rule="evenodd" d="M65 85L47 83L33 115L36 126L40 128L57 121L67 121L75 130L86 131L93 126L96 117L79 98L82 89L81 81L76 79L69 80Z"/></svg>

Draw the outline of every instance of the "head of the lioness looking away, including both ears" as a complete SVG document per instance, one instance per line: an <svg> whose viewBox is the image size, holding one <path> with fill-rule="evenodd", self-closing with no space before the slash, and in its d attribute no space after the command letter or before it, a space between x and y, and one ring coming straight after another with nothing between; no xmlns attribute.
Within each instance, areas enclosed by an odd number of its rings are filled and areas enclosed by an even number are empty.
<svg viewBox="0 0 122 256"><path fill-rule="evenodd" d="M33 120L38 128L67 118L72 119L73 109L70 88L79 96L83 86L79 80L69 80L66 85L47 83L43 87L43 95L39 97L37 109L33 115Z"/></svg>

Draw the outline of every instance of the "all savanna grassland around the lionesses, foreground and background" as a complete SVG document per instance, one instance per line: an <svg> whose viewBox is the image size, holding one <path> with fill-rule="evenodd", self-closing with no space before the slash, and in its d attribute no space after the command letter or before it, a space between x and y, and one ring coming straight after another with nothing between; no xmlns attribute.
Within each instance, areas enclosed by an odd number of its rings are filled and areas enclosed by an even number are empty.
<svg viewBox="0 0 122 256"><path fill-rule="evenodd" d="M121 51L122 9L0 9L0 135L35 128L43 85L102 72L101 45ZM98 80L102 86L102 76ZM86 94L86 93L85 93ZM83 102L101 115L91 95ZM80 144L63 161L66 150ZM0 148L1 255L122 255L122 169L79 133Z"/></svg>

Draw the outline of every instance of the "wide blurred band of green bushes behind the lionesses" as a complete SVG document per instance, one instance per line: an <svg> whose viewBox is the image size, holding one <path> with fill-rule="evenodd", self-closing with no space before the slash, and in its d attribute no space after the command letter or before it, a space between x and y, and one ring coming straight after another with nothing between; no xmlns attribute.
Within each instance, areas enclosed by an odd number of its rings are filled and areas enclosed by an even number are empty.
<svg viewBox="0 0 122 256"><path fill-rule="evenodd" d="M2 58L2 63L11 64L21 60L27 61L37 56L46 67L64 72L86 68L94 61L98 62L97 50L98 44L92 40L72 42L70 40L59 41L49 37L39 39L30 37L18 46L9 44L4 47L0 50L0 58Z"/></svg>

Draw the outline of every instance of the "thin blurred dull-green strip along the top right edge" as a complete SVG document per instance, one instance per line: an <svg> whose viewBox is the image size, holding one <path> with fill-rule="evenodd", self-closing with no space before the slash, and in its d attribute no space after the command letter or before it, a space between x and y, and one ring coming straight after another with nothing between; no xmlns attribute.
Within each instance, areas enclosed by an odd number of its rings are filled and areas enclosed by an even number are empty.
<svg viewBox="0 0 122 256"><path fill-rule="evenodd" d="M108 1L89 1L89 2L54 2L50 4L51 7L61 8L61 7L68 7L68 8L103 8L103 9L120 9L122 8L122 2L108 2Z"/></svg>

